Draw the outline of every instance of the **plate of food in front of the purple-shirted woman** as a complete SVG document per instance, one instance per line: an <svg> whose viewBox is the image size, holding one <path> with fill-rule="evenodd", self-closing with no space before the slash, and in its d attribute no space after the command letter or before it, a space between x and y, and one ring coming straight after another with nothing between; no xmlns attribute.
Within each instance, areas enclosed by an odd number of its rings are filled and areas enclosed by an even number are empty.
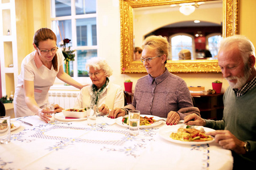
<svg viewBox="0 0 256 170"><path fill-rule="evenodd" d="M147 115L147 114L141 114L141 118L140 118L140 126L139 128L152 128L155 126L158 126L160 124L162 124L165 121L158 121L155 122L157 120L163 119L161 117L158 116L152 116L152 115ZM118 117L115 122L123 127L128 128L129 127L129 121L128 121L128 116L123 116L123 117ZM127 124L128 123L128 124Z"/></svg>

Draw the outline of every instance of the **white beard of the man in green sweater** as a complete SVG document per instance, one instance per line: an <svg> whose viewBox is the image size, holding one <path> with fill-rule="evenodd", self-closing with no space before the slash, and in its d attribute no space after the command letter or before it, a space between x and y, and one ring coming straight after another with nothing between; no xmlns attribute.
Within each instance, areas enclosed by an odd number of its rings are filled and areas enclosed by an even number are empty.
<svg viewBox="0 0 256 170"><path fill-rule="evenodd" d="M247 80L249 79L249 76L251 75L251 71L250 71L250 66L248 65L248 63L245 64L245 70L243 71L244 76L238 78L237 76L229 76L226 77L225 79L228 80L229 86L232 88L242 88L243 86L245 86ZM233 82L229 82L229 80L234 80L236 79L237 82L233 83Z"/></svg>

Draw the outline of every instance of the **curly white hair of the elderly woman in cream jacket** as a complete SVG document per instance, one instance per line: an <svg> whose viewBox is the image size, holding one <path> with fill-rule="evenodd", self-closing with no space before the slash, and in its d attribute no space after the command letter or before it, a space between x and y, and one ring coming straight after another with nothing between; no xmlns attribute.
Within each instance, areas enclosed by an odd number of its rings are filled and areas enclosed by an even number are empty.
<svg viewBox="0 0 256 170"><path fill-rule="evenodd" d="M105 72L105 76L111 76L113 73L113 70L108 65L105 59L99 58L99 57L93 57L88 59L85 65L85 69L89 70L89 67L93 67L95 70L102 69Z"/></svg>

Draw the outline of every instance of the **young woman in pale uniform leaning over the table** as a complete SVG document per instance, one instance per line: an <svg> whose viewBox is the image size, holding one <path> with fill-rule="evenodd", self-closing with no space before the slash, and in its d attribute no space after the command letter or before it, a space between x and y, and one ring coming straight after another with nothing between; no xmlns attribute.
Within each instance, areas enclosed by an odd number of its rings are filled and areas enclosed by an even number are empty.
<svg viewBox="0 0 256 170"><path fill-rule="evenodd" d="M18 86L14 95L15 117L38 115L44 122L51 118L44 109L48 103L48 91L56 76L63 82L81 89L84 85L76 82L63 71L64 56L56 47L57 37L51 29L41 28L34 35L35 51L22 61Z"/></svg>

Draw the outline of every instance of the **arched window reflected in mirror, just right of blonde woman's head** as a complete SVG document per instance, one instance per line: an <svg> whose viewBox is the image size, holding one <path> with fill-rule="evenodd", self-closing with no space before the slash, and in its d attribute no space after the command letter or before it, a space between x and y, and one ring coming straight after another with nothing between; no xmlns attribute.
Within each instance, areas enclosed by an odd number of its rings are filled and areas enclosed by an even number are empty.
<svg viewBox="0 0 256 170"><path fill-rule="evenodd" d="M168 59L179 60L179 52L181 49L188 49L191 52L191 59L193 58L193 36L187 33L177 33L170 36L171 56Z"/></svg>

